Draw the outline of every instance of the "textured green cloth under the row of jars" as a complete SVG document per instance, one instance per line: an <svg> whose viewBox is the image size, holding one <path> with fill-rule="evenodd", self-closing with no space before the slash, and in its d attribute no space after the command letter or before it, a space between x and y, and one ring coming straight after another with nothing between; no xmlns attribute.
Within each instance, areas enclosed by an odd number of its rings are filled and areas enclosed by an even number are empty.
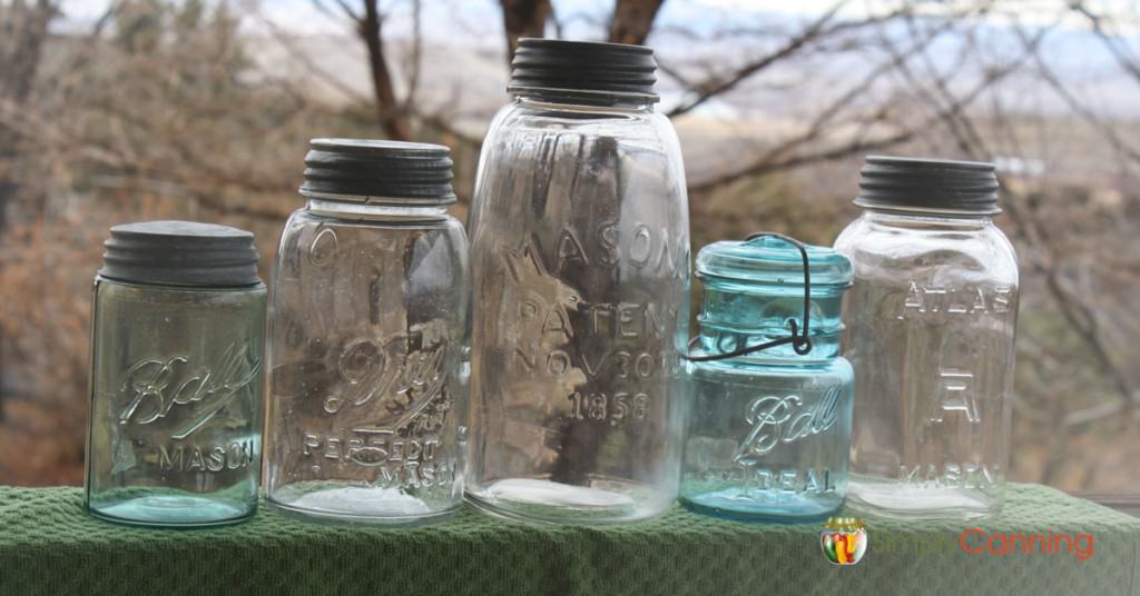
<svg viewBox="0 0 1140 596"><path fill-rule="evenodd" d="M832 565L822 524L747 524L674 508L611 528L529 525L463 511L414 529L294 521L262 507L211 530L114 525L75 488L0 488L0 595L23 594L1140 594L1140 519L1012 484L987 523L865 519L870 547ZM1093 554L968 554L987 534L1091 533ZM977 534L971 534L971 539Z"/></svg>

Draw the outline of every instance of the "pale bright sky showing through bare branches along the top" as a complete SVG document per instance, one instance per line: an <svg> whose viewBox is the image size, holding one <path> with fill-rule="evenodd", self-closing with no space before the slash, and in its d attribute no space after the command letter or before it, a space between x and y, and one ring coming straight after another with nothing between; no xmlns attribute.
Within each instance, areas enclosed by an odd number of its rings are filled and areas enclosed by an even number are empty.
<svg viewBox="0 0 1140 596"><path fill-rule="evenodd" d="M218 0L213 0L218 1ZM808 23L825 14L836 0L667 0L654 23L656 46L665 60L681 55L689 57L690 46L681 42L685 38L669 35L670 31L684 28L703 38L695 42L701 51L731 68L734 63L748 59L750 55L765 51L763 42L755 36L734 41L722 41L718 33L733 27L771 28L783 25L797 28L797 23ZM912 2L921 10L953 10L978 0L944 0L939 2ZM1086 0L1086 6L1097 14L1131 15L1129 23L1113 22L1107 26L1113 31L1130 35L1124 39L1129 51L1140 60L1140 31L1133 28L1140 23L1137 0ZM243 23L253 35L269 33L272 27L291 35L349 36L351 27L340 16L335 0L323 0L332 14L316 7L315 0L229 0L233 8L246 11L252 18ZM345 0L350 6L359 0ZM598 39L605 31L605 18L612 10L613 0L553 0L554 13L563 24L563 36L571 39ZM409 36L412 31L410 0L381 0L381 9L389 16L385 22L385 39L398 41ZM898 8L903 0L848 0L840 10L840 17L860 18L882 14ZM89 27L108 6L108 0L63 0L65 18L56 26L60 30L82 31ZM1105 49L1101 40L1089 31L1089 21L1067 10L1065 0L999 0L993 3L994 14L986 18L986 43L991 48L1002 47L1003 39L1012 38L1010 19L1026 26L1056 25L1045 47L1048 62L1066 80L1076 81L1082 91L1097 95L1097 103L1121 114L1140 113L1140 85L1132 84L1122 75L1119 66ZM422 23L429 43L440 47L484 48L502 51L502 10L498 0L423 0ZM1058 22L1058 15L1066 15ZM548 34L552 32L548 31ZM671 55L670 55L671 52ZM953 59L954 48L940 52L946 60ZM1023 92L1016 90L1015 92Z"/></svg>

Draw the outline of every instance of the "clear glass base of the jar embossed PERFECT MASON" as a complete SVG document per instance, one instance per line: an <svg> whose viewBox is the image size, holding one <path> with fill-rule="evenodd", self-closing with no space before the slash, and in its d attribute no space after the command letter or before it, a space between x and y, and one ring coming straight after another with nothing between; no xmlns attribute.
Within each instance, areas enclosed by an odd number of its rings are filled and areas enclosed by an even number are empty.
<svg viewBox="0 0 1140 596"><path fill-rule="evenodd" d="M284 515L310 522L368 525L422 525L454 515L454 506L433 508L397 489L332 485L308 489L294 484L266 497L266 504Z"/></svg>

